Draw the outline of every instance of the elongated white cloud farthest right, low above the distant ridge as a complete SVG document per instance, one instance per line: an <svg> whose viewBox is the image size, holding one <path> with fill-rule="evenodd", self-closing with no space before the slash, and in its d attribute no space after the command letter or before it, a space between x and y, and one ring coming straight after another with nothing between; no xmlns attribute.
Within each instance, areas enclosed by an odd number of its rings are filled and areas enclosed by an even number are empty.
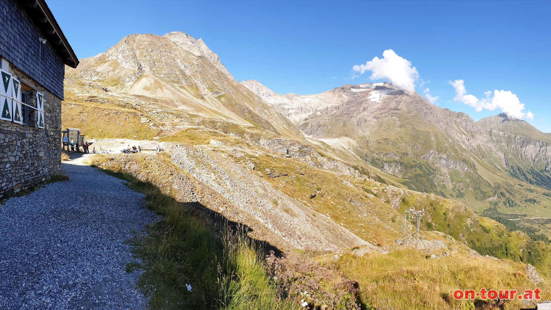
<svg viewBox="0 0 551 310"><path fill-rule="evenodd" d="M487 109L493 111L500 109L507 116L514 119L529 119L534 120L534 114L531 111L526 113L524 110L524 104L518 100L517 95L511 93L509 90L494 90L494 96L491 97L491 92L488 90L484 92L486 98L478 99L473 95L467 95L467 89L464 86L462 79L456 79L450 81L450 84L455 88L455 98L453 101L459 101L464 104L472 106L477 112Z"/></svg>

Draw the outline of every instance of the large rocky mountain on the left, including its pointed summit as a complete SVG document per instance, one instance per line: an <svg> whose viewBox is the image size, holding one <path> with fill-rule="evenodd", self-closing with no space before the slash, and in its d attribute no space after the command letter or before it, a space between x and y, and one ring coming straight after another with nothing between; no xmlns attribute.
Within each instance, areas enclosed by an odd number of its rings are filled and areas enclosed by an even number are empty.
<svg viewBox="0 0 551 310"><path fill-rule="evenodd" d="M286 137L301 136L272 105L236 82L201 39L179 31L126 36L106 52L80 60L78 68L67 68L66 79L150 97L176 105L186 114L255 125Z"/></svg>

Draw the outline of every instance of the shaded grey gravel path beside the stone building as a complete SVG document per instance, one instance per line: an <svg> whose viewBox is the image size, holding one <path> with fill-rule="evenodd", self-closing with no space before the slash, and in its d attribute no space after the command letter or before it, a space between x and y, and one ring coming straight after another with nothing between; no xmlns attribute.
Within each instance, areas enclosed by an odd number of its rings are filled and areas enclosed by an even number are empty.
<svg viewBox="0 0 551 310"><path fill-rule="evenodd" d="M0 206L0 309L144 309L140 271L124 243L158 220L143 194L82 159L69 181Z"/></svg>

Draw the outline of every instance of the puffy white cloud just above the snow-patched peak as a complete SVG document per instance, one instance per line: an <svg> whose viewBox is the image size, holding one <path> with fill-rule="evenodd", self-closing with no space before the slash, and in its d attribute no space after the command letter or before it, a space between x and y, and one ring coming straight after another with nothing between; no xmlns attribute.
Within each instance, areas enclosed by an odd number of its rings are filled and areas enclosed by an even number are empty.
<svg viewBox="0 0 551 310"><path fill-rule="evenodd" d="M411 62L398 56L393 50L384 51L382 56L383 58L373 58L365 65L355 65L352 69L360 74L371 71L371 76L369 76L371 80L388 79L388 82L397 87L413 92L415 82L419 79L417 68L412 67Z"/></svg>

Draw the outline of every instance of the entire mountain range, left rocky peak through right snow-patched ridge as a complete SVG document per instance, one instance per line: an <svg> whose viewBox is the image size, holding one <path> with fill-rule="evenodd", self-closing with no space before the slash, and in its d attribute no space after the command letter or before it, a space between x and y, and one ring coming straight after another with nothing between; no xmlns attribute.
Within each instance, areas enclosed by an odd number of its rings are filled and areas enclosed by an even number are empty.
<svg viewBox="0 0 551 310"><path fill-rule="evenodd" d="M542 194L551 190L549 133L504 114L475 122L387 82L280 95L254 80L236 82L201 39L179 31L127 36L68 68L66 77L307 140L409 189L460 199L477 211L526 213L526 206L540 215L539 206L548 203ZM544 204L526 203L530 198Z"/></svg>

